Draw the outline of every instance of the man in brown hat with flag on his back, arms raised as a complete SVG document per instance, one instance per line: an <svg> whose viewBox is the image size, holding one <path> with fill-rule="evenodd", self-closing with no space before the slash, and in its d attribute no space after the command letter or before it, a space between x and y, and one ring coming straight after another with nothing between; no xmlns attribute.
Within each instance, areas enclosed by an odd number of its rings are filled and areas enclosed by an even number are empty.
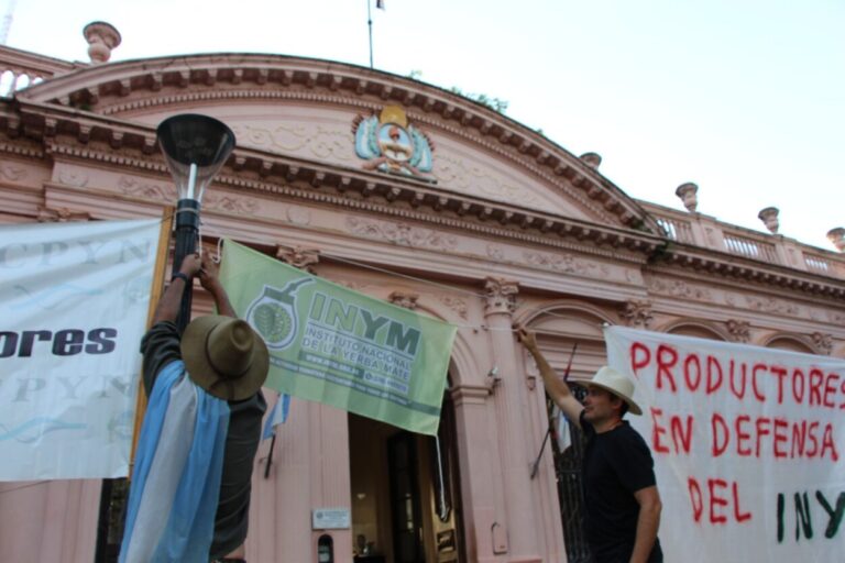
<svg viewBox="0 0 845 563"><path fill-rule="evenodd" d="M194 319L180 336L175 321L195 276L220 314ZM213 262L183 261L141 352L150 407L120 561L243 562L268 354L237 318Z"/></svg>

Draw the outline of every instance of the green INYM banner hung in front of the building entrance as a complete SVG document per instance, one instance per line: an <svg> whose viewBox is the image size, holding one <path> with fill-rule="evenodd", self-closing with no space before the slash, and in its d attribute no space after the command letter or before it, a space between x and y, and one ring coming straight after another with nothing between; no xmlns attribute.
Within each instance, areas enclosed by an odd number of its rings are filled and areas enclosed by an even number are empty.
<svg viewBox="0 0 845 563"><path fill-rule="evenodd" d="M220 280L267 343L267 387L437 433L456 327L229 240Z"/></svg>

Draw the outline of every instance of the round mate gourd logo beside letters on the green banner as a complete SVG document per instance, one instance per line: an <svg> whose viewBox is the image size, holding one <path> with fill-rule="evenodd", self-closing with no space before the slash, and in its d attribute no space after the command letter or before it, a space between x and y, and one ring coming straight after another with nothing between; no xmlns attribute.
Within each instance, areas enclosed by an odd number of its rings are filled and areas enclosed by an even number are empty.
<svg viewBox="0 0 845 563"><path fill-rule="evenodd" d="M290 345L299 328L296 314L296 292L314 279L299 278L279 289L264 286L264 291L246 309L246 322L257 331L271 350L284 350Z"/></svg>

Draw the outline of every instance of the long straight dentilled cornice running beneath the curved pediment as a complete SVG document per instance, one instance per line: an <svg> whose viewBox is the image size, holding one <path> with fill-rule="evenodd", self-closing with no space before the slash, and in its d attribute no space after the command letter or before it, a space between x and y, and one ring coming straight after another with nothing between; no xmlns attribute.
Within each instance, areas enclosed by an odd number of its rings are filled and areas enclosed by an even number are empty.
<svg viewBox="0 0 845 563"><path fill-rule="evenodd" d="M0 131L6 131L12 139L23 136L29 143L40 142L42 154L53 158L80 159L168 176L157 154L155 131L134 122L21 100L14 108L0 107ZM0 143L0 151L40 155L33 146L19 148L19 143ZM400 218L492 240L563 249L632 264L648 261L811 295L845 295L845 284L822 275L684 245L647 232L597 225L460 195L413 178L260 150L235 148L217 184L234 190L281 195L303 202Z"/></svg>

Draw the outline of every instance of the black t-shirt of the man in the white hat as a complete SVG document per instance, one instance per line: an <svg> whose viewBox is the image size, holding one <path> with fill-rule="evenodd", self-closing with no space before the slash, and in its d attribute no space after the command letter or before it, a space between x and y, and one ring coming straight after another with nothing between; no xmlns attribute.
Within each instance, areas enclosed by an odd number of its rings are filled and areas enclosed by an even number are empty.
<svg viewBox="0 0 845 563"><path fill-rule="evenodd" d="M582 472L586 541L595 563L627 563L639 517L634 493L656 484L651 452L627 421L600 434L582 411L580 423L586 437ZM659 563L662 558L656 541L648 561Z"/></svg>

